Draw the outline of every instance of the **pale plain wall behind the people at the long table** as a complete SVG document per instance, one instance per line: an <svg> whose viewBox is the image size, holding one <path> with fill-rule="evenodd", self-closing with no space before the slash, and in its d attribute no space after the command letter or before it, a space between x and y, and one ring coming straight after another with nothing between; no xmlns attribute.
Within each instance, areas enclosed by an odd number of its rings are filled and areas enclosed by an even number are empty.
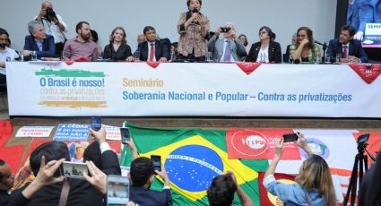
<svg viewBox="0 0 381 206"><path fill-rule="evenodd" d="M28 35L27 23L39 13L42 0L3 0L0 27L8 30L12 47L21 50ZM123 26L127 43L136 46L136 36L143 27L156 28L161 38L178 41L179 14L186 11L186 0L52 0L54 10L61 15L69 31L68 39L75 36L75 24L88 21L97 30L102 47L108 44L108 35L116 26ZM276 33L284 53L292 33L300 26L314 31L315 39L328 41L334 36L336 18L335 0L203 0L202 13L211 21L211 30L224 22L236 24L238 34L245 33L249 43L258 40L261 26L267 25Z"/></svg>

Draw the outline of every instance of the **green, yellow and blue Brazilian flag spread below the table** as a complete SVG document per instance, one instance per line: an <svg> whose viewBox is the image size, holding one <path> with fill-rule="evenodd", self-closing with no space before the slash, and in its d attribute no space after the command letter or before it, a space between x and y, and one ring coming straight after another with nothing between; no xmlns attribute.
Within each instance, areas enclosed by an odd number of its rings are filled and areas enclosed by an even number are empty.
<svg viewBox="0 0 381 206"><path fill-rule="evenodd" d="M174 205L209 205L207 188L214 176L227 171L236 175L242 189L260 205L257 171L265 171L268 160L228 159L225 130L147 128L127 122L124 126L129 127L141 157L161 156ZM130 164L131 153L125 147L121 165ZM162 187L155 178L151 189L161 191ZM237 194L234 205L240 205Z"/></svg>

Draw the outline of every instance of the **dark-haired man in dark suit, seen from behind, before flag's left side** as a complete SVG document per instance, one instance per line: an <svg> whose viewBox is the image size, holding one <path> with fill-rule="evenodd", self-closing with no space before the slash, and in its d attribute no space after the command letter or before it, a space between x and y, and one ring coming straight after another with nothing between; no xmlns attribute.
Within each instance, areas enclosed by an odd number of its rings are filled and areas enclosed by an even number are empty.
<svg viewBox="0 0 381 206"><path fill-rule="evenodd" d="M161 192L150 190L155 173L164 181L164 188ZM139 205L172 205L172 194L169 189L169 177L163 165L161 165L161 171L155 171L151 159L134 159L131 163L130 177L132 181L130 188L130 201Z"/></svg>

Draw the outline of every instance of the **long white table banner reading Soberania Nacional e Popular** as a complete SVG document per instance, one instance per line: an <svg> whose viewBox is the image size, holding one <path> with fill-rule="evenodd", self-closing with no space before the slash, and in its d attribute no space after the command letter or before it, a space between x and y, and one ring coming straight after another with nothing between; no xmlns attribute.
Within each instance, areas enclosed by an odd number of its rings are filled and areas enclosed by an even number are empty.
<svg viewBox="0 0 381 206"><path fill-rule="evenodd" d="M347 64L11 62L6 71L10 116L381 117L380 78L365 82Z"/></svg>

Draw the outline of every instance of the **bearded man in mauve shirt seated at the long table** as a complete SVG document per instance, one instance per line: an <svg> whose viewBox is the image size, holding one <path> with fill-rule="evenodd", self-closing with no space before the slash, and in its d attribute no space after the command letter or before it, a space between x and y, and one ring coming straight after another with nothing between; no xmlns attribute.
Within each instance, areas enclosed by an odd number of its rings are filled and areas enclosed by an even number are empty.
<svg viewBox="0 0 381 206"><path fill-rule="evenodd" d="M90 40L90 25L86 21L77 23L75 27L77 37L69 39L65 43L65 59L75 59L78 57L88 57L95 61L98 58L98 49L95 42Z"/></svg>

